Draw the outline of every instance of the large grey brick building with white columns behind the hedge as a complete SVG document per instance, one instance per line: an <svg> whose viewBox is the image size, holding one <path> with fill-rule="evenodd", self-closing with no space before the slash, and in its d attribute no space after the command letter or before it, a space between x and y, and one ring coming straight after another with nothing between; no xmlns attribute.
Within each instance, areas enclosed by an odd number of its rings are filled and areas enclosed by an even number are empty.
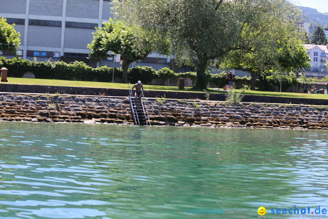
<svg viewBox="0 0 328 219"><path fill-rule="evenodd" d="M17 54L23 59L45 61L84 61L92 67L107 65L121 67L112 58L106 60L87 59L87 45L92 41L95 27L113 18L111 0L0 0L0 17L7 18L20 32L21 45ZM12 58L14 54L0 52ZM156 53L145 60L134 62L130 67L151 66L155 70L170 67L171 58ZM176 72L195 71L191 67L180 67ZM215 71L214 71L215 72ZM250 76L238 72L237 76Z"/></svg>

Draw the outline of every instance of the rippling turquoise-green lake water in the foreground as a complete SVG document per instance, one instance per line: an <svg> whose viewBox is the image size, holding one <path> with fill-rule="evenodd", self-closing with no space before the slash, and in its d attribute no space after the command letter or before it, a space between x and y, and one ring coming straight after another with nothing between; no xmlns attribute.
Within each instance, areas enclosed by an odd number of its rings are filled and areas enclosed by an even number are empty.
<svg viewBox="0 0 328 219"><path fill-rule="evenodd" d="M0 122L0 218L328 207L327 133Z"/></svg>

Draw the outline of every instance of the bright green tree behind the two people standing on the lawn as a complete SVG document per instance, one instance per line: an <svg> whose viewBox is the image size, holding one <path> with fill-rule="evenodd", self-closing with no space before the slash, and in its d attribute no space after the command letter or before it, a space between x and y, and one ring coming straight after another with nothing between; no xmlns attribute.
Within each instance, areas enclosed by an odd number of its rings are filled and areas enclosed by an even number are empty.
<svg viewBox="0 0 328 219"><path fill-rule="evenodd" d="M250 45L249 50L231 51L221 63L223 68L249 72L252 76L251 90L255 90L258 74L265 78L272 74L304 72L304 69L311 67L311 59L303 46L304 42L291 36L295 32L286 29L280 33L283 35L275 32L267 34L267 37Z"/></svg>

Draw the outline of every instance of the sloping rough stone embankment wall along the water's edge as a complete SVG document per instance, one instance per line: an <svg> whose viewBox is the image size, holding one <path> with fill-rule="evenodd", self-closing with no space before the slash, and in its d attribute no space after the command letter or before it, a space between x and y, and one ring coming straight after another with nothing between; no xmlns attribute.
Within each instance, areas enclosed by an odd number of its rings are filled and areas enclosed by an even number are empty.
<svg viewBox="0 0 328 219"><path fill-rule="evenodd" d="M172 99L146 103L152 125L328 130L328 107ZM133 124L128 98L73 95L1 94L0 120Z"/></svg>

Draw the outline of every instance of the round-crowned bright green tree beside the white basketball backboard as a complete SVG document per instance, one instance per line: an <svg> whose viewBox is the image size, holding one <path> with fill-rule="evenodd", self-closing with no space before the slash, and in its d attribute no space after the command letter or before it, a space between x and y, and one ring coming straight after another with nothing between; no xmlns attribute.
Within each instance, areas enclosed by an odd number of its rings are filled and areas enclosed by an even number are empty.
<svg viewBox="0 0 328 219"><path fill-rule="evenodd" d="M151 35L151 33L149 33ZM130 27L121 21L110 18L93 33L93 40L88 45L89 56L95 58L113 57L121 54L122 82L128 81L129 65L137 60L145 59L153 51L151 37L138 27Z"/></svg>

